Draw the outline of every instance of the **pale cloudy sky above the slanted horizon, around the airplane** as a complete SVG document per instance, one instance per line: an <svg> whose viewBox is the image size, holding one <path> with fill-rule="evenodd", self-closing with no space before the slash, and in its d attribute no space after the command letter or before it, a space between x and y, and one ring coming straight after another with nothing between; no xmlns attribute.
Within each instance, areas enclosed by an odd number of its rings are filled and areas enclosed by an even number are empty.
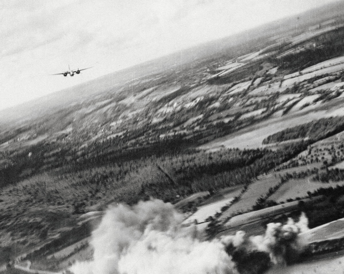
<svg viewBox="0 0 344 274"><path fill-rule="evenodd" d="M0 110L331 1L1 0Z"/></svg>

